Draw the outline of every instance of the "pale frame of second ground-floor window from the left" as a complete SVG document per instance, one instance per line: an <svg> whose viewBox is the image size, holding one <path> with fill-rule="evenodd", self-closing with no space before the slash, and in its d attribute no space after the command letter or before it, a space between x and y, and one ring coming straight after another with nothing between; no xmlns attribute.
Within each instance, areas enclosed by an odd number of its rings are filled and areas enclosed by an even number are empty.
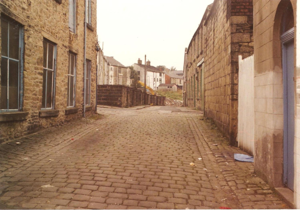
<svg viewBox="0 0 300 210"><path fill-rule="evenodd" d="M56 50L57 50L57 45L47 39L43 39L43 42L46 42L47 43L47 61L46 61L46 68L43 67L43 70L46 70L46 79L45 79L45 107L44 108L41 108L41 110L49 110L49 109L54 109L54 105L55 105L55 81L56 81ZM53 45L53 69L49 69L48 68L48 47L49 47L49 44ZM52 87L51 87L51 95L52 95L52 101L51 101L51 107L47 107L47 72L48 71L51 71L53 72L53 77L52 77ZM43 72L42 72L43 73Z"/></svg>

